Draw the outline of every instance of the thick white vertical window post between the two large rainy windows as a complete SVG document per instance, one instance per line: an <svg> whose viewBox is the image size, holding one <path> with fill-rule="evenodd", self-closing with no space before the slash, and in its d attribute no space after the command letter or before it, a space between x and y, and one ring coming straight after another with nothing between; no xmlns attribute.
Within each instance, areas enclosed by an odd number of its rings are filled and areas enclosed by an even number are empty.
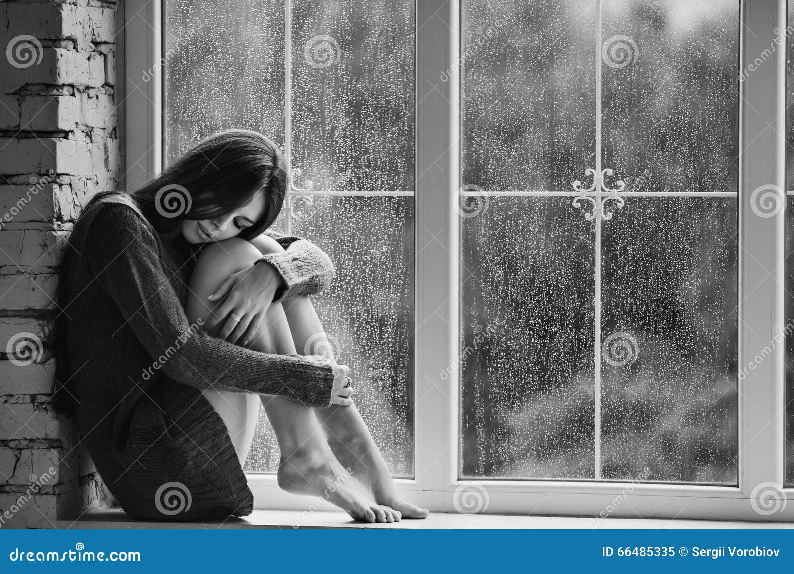
<svg viewBox="0 0 794 574"><path fill-rule="evenodd" d="M458 5L416 3L415 444L426 490L448 487L458 464Z"/></svg>

